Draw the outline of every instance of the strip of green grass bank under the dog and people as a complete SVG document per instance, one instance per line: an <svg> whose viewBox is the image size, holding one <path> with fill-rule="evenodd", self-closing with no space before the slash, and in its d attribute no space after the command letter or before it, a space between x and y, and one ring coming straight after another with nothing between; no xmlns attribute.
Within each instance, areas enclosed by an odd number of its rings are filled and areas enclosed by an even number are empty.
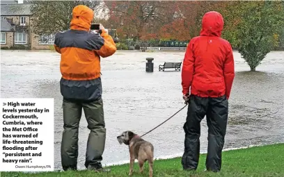
<svg viewBox="0 0 284 177"><path fill-rule="evenodd" d="M154 175L159 177L172 176L284 176L284 144L252 147L223 152L222 169L219 173L205 172L205 154L200 155L200 163L197 171L182 171L180 158L169 160L155 160ZM22 174L19 172L2 172L1 177L33 176L33 177L97 177L97 176L128 176L128 165L111 167L109 174L97 174L92 171L64 171L42 172L40 174ZM139 167L134 164L132 176L148 176L148 163L145 163L143 174L139 174Z"/></svg>

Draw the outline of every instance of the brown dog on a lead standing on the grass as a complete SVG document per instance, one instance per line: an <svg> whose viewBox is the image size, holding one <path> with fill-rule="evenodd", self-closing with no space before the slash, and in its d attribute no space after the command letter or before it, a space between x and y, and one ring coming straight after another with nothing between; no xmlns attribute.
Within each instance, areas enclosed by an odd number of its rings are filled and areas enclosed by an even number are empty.
<svg viewBox="0 0 284 177"><path fill-rule="evenodd" d="M154 146L150 142L146 142L139 135L131 131L125 131L117 137L120 144L129 146L130 165L129 176L133 173L134 160L139 162L140 173L143 172L144 162L149 162L149 176L153 176L153 163L154 163Z"/></svg>

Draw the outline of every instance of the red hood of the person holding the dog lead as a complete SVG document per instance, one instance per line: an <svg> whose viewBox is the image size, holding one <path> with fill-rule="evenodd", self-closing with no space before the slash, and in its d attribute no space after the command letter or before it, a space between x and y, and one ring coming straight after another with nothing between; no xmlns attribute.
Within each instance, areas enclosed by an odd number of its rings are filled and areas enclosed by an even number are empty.
<svg viewBox="0 0 284 177"><path fill-rule="evenodd" d="M200 35L220 37L223 31L223 26L223 17L219 12L207 12L202 19L202 29Z"/></svg>

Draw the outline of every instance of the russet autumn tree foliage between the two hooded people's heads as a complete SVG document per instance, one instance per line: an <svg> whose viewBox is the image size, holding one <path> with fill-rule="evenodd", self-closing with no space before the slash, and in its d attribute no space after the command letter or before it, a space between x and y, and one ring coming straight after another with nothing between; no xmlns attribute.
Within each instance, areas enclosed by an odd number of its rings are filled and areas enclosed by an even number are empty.
<svg viewBox="0 0 284 177"><path fill-rule="evenodd" d="M107 26L120 38L189 41L199 35L200 17L218 1L104 1Z"/></svg>

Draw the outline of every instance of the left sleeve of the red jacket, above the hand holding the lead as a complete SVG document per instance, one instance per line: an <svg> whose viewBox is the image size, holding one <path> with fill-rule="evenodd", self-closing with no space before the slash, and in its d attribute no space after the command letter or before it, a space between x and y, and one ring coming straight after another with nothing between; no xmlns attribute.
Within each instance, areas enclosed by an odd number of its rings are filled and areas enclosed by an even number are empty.
<svg viewBox="0 0 284 177"><path fill-rule="evenodd" d="M194 39L189 42L187 51L184 55L184 61L182 64L182 93L189 94L189 87L191 86L192 79L194 77Z"/></svg>

